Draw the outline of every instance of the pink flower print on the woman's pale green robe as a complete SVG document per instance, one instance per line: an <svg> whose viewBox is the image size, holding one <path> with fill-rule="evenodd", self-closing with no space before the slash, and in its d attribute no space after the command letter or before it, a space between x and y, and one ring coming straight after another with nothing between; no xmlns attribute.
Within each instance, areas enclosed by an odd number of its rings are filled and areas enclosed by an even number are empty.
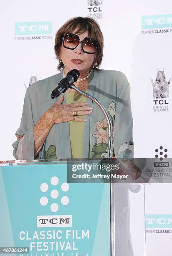
<svg viewBox="0 0 172 256"><path fill-rule="evenodd" d="M109 127L106 118L100 123L100 121L96 122L96 129L97 131L93 134L94 137L98 138L96 141L96 144L99 143L108 143L109 138ZM114 126L112 126L112 138L113 138L113 129Z"/></svg>

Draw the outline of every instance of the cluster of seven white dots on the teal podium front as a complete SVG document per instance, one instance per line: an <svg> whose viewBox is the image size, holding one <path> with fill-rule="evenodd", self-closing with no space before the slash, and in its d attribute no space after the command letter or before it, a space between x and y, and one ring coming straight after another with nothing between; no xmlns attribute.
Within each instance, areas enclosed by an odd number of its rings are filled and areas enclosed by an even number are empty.
<svg viewBox="0 0 172 256"><path fill-rule="evenodd" d="M51 182L51 185L52 185L52 186L56 186L56 187L55 187L54 189L52 189L51 192L50 192L50 196L51 196L51 198L53 198L54 200L56 200L56 199L59 197L59 190L58 190L58 189L60 189L60 190L63 191L63 192L67 192L68 189L69 189L69 184L66 183L66 182L64 182L63 184L61 184L61 187L59 187L59 186L58 186L59 180L58 180L58 177L56 177L56 176L52 177L51 180L50 180L50 182ZM52 187L52 186L51 186L51 187ZM49 187L48 187L48 184L47 184L47 183L42 183L42 184L40 185L40 190L41 190L42 192L47 192L47 191L48 191L48 188L49 188ZM64 196L61 197L60 201L61 201L61 204L62 204L62 205L68 205L68 203L69 203L69 198L68 198L66 195L64 195ZM40 198L40 204L43 205L43 206L47 205L47 204L48 204L48 198L47 198L46 196L41 197L41 198ZM57 211L58 211L58 208L59 208L59 205L58 205L56 202L52 203L51 206L50 206L50 209L51 209L52 212L57 212Z"/></svg>

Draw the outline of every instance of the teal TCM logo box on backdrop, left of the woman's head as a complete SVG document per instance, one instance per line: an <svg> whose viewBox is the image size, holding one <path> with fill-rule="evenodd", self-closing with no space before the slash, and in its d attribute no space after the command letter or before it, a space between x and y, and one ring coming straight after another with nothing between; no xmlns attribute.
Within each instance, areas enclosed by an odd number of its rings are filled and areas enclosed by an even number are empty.
<svg viewBox="0 0 172 256"><path fill-rule="evenodd" d="M15 22L15 35L52 34L52 21Z"/></svg>

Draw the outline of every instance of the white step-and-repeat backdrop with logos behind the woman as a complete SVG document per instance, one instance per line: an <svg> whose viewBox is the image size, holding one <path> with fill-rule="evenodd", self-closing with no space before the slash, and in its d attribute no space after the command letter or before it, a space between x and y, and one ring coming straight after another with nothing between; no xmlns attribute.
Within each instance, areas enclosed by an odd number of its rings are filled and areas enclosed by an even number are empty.
<svg viewBox="0 0 172 256"><path fill-rule="evenodd" d="M157 158L154 175L170 177L172 166L172 2L152 1L13 1L1 2L1 146L0 160L14 159L12 143L20 125L27 88L58 71L54 37L69 18L88 16L104 34L102 69L123 72L131 84L136 158ZM108 84L105 84L108 86ZM161 174L160 174L161 173ZM172 255L172 206L167 184L146 192L147 255ZM130 193L131 223L139 218ZM135 216L136 218L134 219ZM132 231L132 238L139 230ZM139 255L135 244L134 255Z"/></svg>

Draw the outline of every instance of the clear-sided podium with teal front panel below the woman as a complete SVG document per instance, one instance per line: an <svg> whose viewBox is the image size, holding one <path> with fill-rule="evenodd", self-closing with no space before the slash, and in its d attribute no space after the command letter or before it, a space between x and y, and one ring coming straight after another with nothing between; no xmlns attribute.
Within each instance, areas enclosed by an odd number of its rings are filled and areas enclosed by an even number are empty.
<svg viewBox="0 0 172 256"><path fill-rule="evenodd" d="M1 161L0 253L144 256L144 185L68 182L68 165Z"/></svg>

